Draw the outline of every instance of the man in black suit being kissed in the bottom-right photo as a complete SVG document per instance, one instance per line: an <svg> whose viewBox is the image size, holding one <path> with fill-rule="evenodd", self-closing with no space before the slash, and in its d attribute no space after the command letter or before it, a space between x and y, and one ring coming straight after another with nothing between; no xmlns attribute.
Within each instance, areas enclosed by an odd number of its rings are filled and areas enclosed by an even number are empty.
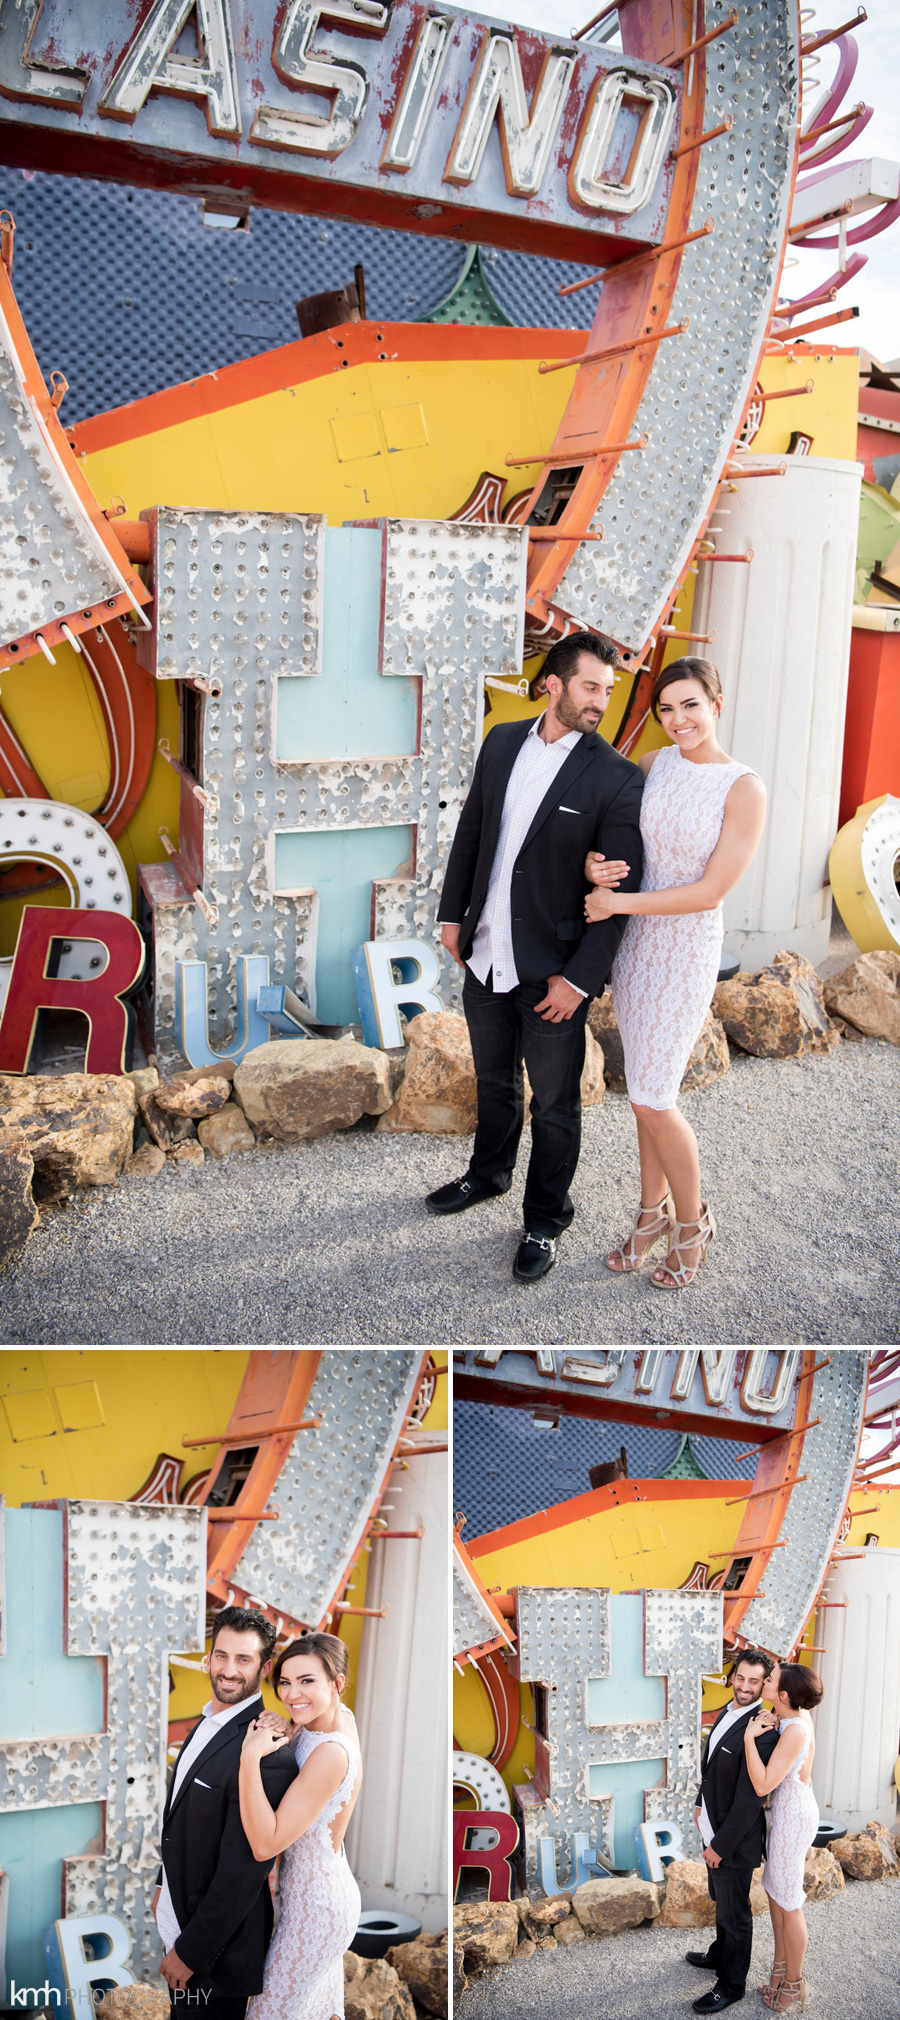
<svg viewBox="0 0 900 2020"><path fill-rule="evenodd" d="M745 1731L759 1709L773 1666L763 1648L743 1650L730 1677L733 1703L718 1713L702 1749L694 1822L704 1846L708 1889L716 1903L716 1937L706 1951L688 1949L688 1963L714 1972L716 1982L712 1992L694 2000L698 2014L718 2014L743 2000L751 1970L751 1881L765 1852L765 1798L757 1796L747 1770ZM765 1761L777 1743L777 1731L757 1739Z"/></svg>

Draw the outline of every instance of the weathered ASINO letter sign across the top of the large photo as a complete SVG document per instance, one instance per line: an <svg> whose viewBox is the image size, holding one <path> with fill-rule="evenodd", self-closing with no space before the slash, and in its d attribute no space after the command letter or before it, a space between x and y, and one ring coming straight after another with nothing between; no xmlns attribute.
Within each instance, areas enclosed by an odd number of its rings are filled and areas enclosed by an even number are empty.
<svg viewBox="0 0 900 2020"><path fill-rule="evenodd" d="M426 0L0 0L16 166L555 259L662 240L680 89Z"/></svg>

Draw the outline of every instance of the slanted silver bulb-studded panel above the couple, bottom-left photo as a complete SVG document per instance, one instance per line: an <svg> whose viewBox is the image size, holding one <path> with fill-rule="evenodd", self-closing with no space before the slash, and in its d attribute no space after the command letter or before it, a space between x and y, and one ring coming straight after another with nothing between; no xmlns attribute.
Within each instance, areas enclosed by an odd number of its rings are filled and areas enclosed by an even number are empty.
<svg viewBox="0 0 900 2020"><path fill-rule="evenodd" d="M299 1430L272 1493L278 1521L250 1537L234 1582L313 1626L341 1586L416 1394L420 1353L323 1353L309 1394L319 1430Z"/></svg>

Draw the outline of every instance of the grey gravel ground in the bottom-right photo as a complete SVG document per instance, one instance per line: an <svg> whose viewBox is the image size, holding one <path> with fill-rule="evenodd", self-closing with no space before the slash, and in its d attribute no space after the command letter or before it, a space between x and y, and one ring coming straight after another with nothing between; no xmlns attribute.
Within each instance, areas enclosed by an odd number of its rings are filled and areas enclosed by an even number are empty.
<svg viewBox="0 0 900 2020"><path fill-rule="evenodd" d="M833 1901L805 1909L809 1927L811 2020L898 2020L900 1885L848 1881ZM706 1949L706 1929L628 1929L563 1951L539 1951L521 1963L472 1978L456 2020L690 2020L692 2000L712 1974L684 1963L686 1949ZM765 2016L757 1984L773 1959L769 1915L755 1921L753 1976L735 2014Z"/></svg>

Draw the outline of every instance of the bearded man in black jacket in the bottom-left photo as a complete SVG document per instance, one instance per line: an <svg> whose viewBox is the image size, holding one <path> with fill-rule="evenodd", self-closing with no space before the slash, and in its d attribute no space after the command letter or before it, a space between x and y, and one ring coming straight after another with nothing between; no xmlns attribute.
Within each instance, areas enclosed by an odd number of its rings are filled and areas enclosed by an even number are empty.
<svg viewBox="0 0 900 2020"><path fill-rule="evenodd" d="M262 1711L272 1648L274 1626L264 1614L226 1606L216 1616L214 1695L184 1741L165 1798L153 1913L170 2006L182 2020L242 2020L250 1994L262 1992L274 1858L250 1852L238 1770L244 1733ZM276 1810L297 1776L291 1747L266 1755L262 1776Z"/></svg>

